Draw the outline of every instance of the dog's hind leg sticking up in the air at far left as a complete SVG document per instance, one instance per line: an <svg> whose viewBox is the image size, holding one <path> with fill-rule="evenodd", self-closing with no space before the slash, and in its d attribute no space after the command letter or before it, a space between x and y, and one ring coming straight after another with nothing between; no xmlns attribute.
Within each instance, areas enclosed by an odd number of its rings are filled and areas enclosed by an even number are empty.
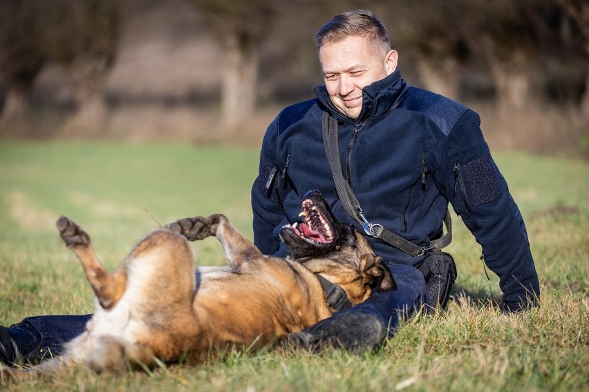
<svg viewBox="0 0 589 392"><path fill-rule="evenodd" d="M56 222L57 230L66 246L80 259L100 305L109 309L122 297L127 278L121 270L107 272L98 261L88 234L75 222L67 217L59 217Z"/></svg>

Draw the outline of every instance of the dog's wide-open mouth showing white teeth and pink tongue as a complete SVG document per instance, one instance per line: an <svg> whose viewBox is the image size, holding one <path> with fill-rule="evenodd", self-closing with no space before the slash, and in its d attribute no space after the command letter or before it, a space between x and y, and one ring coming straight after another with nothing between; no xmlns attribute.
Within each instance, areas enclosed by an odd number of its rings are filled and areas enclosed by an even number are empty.
<svg viewBox="0 0 589 392"><path fill-rule="evenodd" d="M328 244L333 241L333 228L311 199L303 200L299 217L303 218L303 222L290 226L299 238L315 244Z"/></svg>

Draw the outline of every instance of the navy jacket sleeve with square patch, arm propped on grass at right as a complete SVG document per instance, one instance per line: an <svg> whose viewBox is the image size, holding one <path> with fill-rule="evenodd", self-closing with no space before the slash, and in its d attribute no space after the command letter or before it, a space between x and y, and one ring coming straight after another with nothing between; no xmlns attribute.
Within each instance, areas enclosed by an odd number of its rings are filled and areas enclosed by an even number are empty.
<svg viewBox="0 0 589 392"><path fill-rule="evenodd" d="M485 263L499 277L503 301L536 302L538 275L525 224L480 130L467 110L451 128L445 161L436 173L442 193L482 246Z"/></svg>

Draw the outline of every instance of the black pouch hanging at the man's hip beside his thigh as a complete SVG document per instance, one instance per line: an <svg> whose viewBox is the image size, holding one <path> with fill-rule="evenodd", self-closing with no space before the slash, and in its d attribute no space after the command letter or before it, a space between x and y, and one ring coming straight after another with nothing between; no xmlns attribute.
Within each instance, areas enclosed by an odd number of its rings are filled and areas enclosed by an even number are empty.
<svg viewBox="0 0 589 392"><path fill-rule="evenodd" d="M431 252L418 264L417 268L425 277L425 285L429 299L425 304L428 312L440 307L446 308L450 289L456 280L456 264L449 253L442 251Z"/></svg>

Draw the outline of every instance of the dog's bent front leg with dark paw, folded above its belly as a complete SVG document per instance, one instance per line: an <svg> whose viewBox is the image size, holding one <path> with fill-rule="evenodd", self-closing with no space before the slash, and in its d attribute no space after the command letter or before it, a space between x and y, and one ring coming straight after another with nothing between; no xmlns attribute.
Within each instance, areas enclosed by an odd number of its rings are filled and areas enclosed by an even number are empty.
<svg viewBox="0 0 589 392"><path fill-rule="evenodd" d="M189 241L214 235L223 245L227 262L234 271L239 271L242 264L250 260L263 257L254 243L239 233L223 214L178 219L178 221L168 224L167 228L184 235Z"/></svg>

